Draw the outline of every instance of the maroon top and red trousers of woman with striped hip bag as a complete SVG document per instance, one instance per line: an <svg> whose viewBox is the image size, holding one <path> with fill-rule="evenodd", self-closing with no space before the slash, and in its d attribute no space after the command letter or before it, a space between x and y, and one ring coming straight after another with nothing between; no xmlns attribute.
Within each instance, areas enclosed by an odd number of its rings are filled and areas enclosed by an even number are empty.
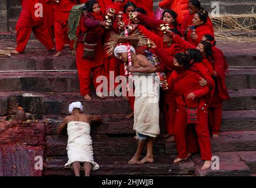
<svg viewBox="0 0 256 188"><path fill-rule="evenodd" d="M98 76L104 75L104 49L102 44L102 33L104 29L99 25L104 18L101 13L91 13L81 18L81 22L78 27L78 43L77 43L77 69L80 82L80 92L82 96L89 94L89 88L91 84L91 72L92 81L95 89L101 84L97 83L96 79ZM95 59L84 58L84 34L87 36L93 36L97 41L95 49ZM88 37L90 38L90 37Z"/></svg>

